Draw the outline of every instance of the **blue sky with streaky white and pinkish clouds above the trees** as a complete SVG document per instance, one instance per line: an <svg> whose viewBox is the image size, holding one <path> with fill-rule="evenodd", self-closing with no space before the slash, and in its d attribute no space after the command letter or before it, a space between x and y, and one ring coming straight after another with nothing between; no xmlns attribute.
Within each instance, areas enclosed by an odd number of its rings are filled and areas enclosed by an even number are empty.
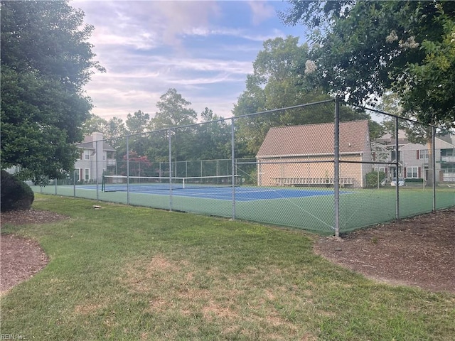
<svg viewBox="0 0 455 341"><path fill-rule="evenodd" d="M170 88L198 114L208 107L232 117L264 41L291 35L304 43L304 27L285 26L277 16L287 1L74 0L70 6L95 27L92 51L107 72L92 75L85 91L92 113L107 120L138 110L154 117Z"/></svg>

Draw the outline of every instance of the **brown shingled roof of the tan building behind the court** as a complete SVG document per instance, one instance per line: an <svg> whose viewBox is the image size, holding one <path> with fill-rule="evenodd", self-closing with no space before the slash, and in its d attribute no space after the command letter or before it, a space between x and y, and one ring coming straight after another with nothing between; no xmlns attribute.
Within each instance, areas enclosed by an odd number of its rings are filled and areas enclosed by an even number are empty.
<svg viewBox="0 0 455 341"><path fill-rule="evenodd" d="M257 157L333 154L334 124L306 124L270 128ZM340 122L340 153L368 149L368 121Z"/></svg>

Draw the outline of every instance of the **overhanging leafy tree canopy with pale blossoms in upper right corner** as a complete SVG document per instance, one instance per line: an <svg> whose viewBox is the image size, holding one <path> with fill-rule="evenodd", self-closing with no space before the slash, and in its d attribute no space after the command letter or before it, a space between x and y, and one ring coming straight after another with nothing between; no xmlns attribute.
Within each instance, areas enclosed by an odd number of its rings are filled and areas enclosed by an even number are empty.
<svg viewBox="0 0 455 341"><path fill-rule="evenodd" d="M408 117L454 126L454 1L289 3L281 18L314 30L307 71L326 90L354 104L392 90Z"/></svg>

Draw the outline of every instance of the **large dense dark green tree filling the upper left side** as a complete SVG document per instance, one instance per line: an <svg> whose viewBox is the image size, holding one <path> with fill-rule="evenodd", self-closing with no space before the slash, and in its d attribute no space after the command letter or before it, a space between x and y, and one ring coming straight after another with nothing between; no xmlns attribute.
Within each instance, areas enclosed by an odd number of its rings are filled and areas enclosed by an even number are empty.
<svg viewBox="0 0 455 341"><path fill-rule="evenodd" d="M1 1L1 168L62 178L77 158L92 104L93 27L68 1ZM45 180L43 180L45 182ZM42 182L41 182L42 183Z"/></svg>

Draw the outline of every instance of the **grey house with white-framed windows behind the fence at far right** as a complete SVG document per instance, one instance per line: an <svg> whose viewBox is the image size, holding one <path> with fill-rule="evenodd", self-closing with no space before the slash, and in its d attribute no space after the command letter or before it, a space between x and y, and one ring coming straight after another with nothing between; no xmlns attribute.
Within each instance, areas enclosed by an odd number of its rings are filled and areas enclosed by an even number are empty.
<svg viewBox="0 0 455 341"><path fill-rule="evenodd" d="M398 176L405 179L424 179L428 180L431 161L429 159L429 146L424 144L414 144L408 141L404 131L399 131L398 139ZM377 140L379 144L385 146L388 155L384 158L385 162L396 163L395 139L392 136L382 136ZM373 153L374 154L374 153ZM434 161L436 180L439 183L455 182L455 136L438 136L434 139ZM375 168L384 171L387 179L390 180L397 176L395 165L381 165Z"/></svg>

